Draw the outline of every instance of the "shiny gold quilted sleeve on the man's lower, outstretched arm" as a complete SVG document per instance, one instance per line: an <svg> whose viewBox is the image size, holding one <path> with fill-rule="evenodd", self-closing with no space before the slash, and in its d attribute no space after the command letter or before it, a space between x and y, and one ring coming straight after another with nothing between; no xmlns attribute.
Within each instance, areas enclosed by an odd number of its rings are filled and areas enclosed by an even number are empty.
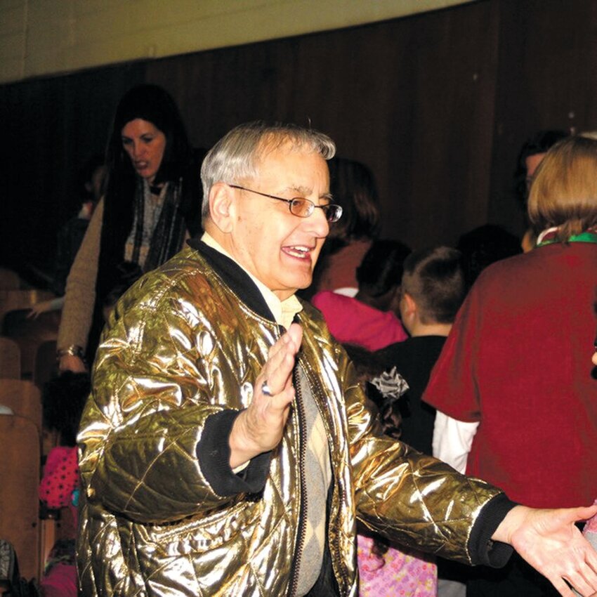
<svg viewBox="0 0 597 597"><path fill-rule="evenodd" d="M382 435L353 366L343 367L357 518L399 544L470 564L475 520L501 490Z"/></svg>

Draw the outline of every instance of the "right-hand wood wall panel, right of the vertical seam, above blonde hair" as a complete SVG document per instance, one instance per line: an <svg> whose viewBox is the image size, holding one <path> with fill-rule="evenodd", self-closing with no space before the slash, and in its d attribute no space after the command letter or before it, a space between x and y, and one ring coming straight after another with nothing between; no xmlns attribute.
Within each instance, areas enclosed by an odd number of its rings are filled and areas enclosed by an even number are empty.
<svg viewBox="0 0 597 597"><path fill-rule="evenodd" d="M597 129L597 2L501 0L489 216L523 230L512 198L525 139L543 129Z"/></svg>

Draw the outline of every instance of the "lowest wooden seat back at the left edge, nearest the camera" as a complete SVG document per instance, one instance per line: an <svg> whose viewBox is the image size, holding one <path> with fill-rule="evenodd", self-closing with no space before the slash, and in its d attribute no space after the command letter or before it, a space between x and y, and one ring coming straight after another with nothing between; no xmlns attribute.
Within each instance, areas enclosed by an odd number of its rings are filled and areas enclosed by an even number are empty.
<svg viewBox="0 0 597 597"><path fill-rule="evenodd" d="M20 574L39 573L39 429L18 415L0 416L0 537L15 547Z"/></svg>

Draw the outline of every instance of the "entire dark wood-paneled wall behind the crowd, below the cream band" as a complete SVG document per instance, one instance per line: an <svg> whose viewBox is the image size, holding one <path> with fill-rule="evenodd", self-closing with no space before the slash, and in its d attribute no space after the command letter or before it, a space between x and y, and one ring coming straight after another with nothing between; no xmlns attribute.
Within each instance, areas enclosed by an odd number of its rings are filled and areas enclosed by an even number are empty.
<svg viewBox="0 0 597 597"><path fill-rule="evenodd" d="M593 0L481 0L1 86L1 262L48 262L77 171L139 81L173 94L197 146L256 118L329 133L374 171L384 235L412 247L486 222L521 232L510 194L520 144L537 129L597 126L596 27Z"/></svg>

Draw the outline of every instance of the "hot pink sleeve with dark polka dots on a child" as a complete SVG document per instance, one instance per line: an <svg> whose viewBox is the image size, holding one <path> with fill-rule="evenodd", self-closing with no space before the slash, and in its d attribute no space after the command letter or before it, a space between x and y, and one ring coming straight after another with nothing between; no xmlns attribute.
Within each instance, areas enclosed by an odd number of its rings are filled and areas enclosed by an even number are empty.
<svg viewBox="0 0 597 597"><path fill-rule="evenodd" d="M46 460L44 478L39 483L39 499L45 501L48 508L63 508L70 504L76 487L79 487L77 447L53 448Z"/></svg>

